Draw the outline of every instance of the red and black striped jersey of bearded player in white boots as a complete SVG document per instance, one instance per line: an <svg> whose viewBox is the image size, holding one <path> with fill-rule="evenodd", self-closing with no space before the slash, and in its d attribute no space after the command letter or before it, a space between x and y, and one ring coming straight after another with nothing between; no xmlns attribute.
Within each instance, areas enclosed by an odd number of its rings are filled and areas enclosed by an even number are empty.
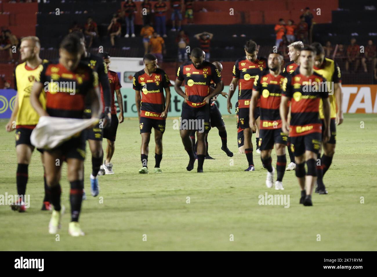
<svg viewBox="0 0 377 277"><path fill-rule="evenodd" d="M287 73L274 76L270 70L262 71L254 80L253 90L259 92L261 102L261 129L281 128L280 101L282 96L282 83Z"/></svg>

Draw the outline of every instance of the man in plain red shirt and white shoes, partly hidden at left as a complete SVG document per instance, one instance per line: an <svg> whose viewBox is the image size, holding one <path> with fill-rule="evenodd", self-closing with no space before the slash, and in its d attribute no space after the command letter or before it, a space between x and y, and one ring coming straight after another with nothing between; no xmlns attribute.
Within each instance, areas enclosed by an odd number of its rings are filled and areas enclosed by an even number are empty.
<svg viewBox="0 0 377 277"><path fill-rule="evenodd" d="M105 128L103 130L103 137L107 139L107 147L106 147L106 159L104 164L101 166L100 170L105 170L105 174L114 174L113 171L113 164L110 162L112 156L114 155L115 151L115 138L116 138L116 130L118 129L118 124L124 121L123 116L123 101L122 101L122 94L120 92L120 88L122 85L120 84L118 74L109 69L110 67L110 55L107 52L101 53L103 61L106 64L107 69L107 76L109 78L110 84L110 92L111 92L111 124L109 128ZM116 107L115 107L115 97L114 92L116 94L116 99L118 100L119 105L119 119L116 116Z"/></svg>

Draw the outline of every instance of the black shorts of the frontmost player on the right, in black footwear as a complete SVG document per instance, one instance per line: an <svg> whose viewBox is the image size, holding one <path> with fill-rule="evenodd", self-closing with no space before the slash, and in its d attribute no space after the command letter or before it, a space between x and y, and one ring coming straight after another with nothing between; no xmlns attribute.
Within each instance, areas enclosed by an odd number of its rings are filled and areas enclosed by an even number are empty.
<svg viewBox="0 0 377 277"><path fill-rule="evenodd" d="M318 154L322 134L321 133L311 133L305 136L291 136L291 151L294 153L295 157L301 156L305 151L311 151Z"/></svg>

